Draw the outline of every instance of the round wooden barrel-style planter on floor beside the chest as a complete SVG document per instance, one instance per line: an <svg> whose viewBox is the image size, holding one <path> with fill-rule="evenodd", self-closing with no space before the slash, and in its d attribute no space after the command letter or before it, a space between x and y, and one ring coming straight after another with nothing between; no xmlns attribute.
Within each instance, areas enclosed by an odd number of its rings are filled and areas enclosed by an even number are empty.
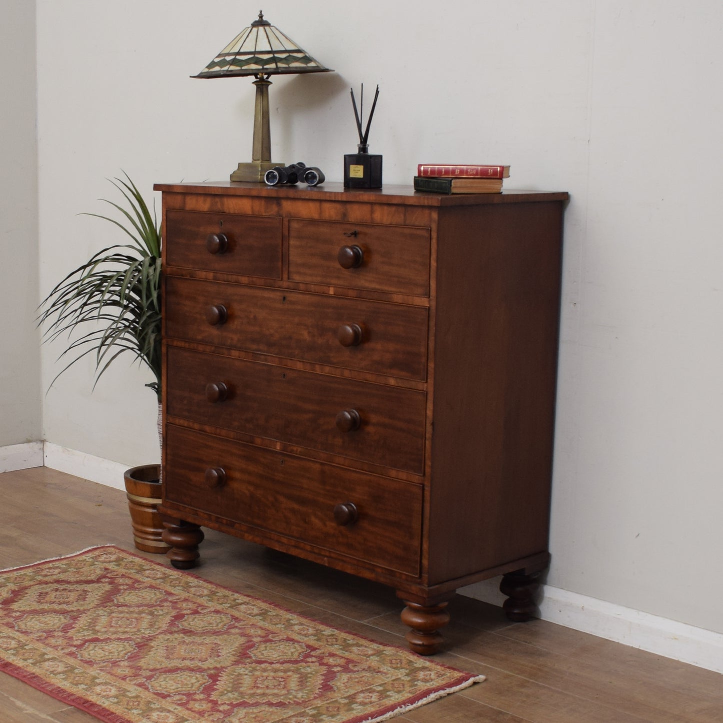
<svg viewBox="0 0 723 723"><path fill-rule="evenodd" d="M158 514L161 503L161 466L146 464L124 473L128 508L133 526L133 542L143 552L163 555L170 547L161 539L163 523Z"/></svg>

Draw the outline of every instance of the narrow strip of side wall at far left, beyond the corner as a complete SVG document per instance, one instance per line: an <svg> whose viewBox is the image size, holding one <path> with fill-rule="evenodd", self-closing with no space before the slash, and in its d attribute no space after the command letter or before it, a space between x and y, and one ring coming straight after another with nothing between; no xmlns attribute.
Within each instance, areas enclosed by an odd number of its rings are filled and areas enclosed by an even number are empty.
<svg viewBox="0 0 723 723"><path fill-rule="evenodd" d="M35 5L0 12L0 447L40 438Z"/></svg>

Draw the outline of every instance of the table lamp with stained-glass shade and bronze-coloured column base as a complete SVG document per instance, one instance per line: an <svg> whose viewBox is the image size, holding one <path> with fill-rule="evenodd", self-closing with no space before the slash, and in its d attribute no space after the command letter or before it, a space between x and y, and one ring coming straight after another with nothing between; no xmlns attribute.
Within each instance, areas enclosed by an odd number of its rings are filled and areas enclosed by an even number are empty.
<svg viewBox="0 0 723 723"><path fill-rule="evenodd" d="M270 168L286 165L280 161L271 161L268 88L271 81L268 78L271 75L326 72L330 72L330 68L325 68L278 27L264 20L260 12L258 20L254 20L250 27L244 27L199 74L193 76L230 78L253 75L256 78L252 161L239 163L239 167L231 174L231 181L263 181L264 174Z"/></svg>

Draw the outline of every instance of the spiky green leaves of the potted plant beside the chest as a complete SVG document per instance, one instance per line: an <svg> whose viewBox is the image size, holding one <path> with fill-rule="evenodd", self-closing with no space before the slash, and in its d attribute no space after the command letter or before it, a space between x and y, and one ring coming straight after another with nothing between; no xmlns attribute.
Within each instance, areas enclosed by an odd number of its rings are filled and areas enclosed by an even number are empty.
<svg viewBox="0 0 723 723"><path fill-rule="evenodd" d="M132 243L101 249L69 273L40 304L38 325L45 327L44 341L68 335L71 343L59 359L75 354L53 381L82 357L95 354L95 388L114 359L130 351L155 375L155 381L146 386L160 401L161 229L155 207L152 216L125 171L124 176L125 181L108 180L123 194L128 208L100 199L124 219L117 221L98 213L83 215L114 223Z"/></svg>

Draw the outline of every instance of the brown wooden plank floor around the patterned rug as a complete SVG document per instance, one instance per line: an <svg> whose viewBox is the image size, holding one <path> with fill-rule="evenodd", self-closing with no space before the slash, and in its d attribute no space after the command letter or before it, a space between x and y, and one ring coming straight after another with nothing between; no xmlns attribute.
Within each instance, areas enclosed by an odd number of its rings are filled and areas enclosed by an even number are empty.
<svg viewBox="0 0 723 723"><path fill-rule="evenodd" d="M0 474L0 569L96 544L134 550L124 492L51 469ZM207 531L195 573L382 643L403 644L392 590ZM144 553L140 553L144 554ZM163 560L159 555L147 555ZM723 676L498 607L450 602L441 662L487 676L395 722L723 722ZM95 720L0 674L2 723Z"/></svg>

